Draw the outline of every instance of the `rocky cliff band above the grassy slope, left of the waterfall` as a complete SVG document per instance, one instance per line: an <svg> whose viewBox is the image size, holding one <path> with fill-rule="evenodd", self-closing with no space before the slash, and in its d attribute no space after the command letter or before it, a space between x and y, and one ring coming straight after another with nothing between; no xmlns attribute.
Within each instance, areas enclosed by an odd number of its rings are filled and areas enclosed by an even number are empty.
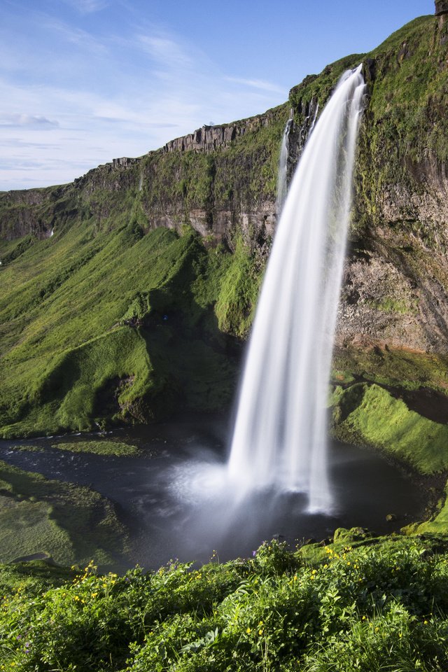
<svg viewBox="0 0 448 672"><path fill-rule="evenodd" d="M235 250L235 237L265 242L275 227L276 167L288 106L235 124L203 127L141 158L120 158L73 184L0 195L1 236L45 237L61 212L97 227L130 218L144 230L192 225Z"/></svg>

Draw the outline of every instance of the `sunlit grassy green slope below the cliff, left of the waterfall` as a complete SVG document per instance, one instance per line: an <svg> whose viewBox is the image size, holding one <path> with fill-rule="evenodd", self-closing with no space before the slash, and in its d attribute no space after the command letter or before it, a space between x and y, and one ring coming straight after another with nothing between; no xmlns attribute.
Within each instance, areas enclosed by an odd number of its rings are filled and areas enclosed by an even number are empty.
<svg viewBox="0 0 448 672"><path fill-rule="evenodd" d="M226 407L235 364L220 326L244 332L249 255L135 224L95 235L79 223L35 241L1 269L3 435ZM242 288L221 287L238 273ZM228 318L241 303L243 317Z"/></svg>

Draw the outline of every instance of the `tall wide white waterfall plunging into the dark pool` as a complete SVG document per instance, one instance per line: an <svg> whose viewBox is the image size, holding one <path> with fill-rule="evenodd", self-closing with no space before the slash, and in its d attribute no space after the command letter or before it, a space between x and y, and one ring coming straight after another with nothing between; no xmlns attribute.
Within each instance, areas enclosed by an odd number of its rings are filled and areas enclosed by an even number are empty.
<svg viewBox="0 0 448 672"><path fill-rule="evenodd" d="M318 119L281 212L253 323L228 472L241 493L300 491L330 512L325 405L342 281L362 65Z"/></svg>

